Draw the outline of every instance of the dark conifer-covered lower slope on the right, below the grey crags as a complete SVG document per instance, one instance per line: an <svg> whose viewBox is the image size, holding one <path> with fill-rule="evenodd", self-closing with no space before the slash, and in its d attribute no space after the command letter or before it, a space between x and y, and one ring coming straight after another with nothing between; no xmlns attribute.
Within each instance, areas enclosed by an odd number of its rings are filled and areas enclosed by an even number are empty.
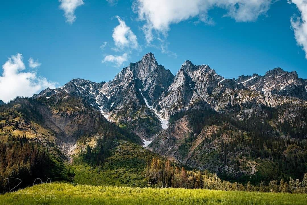
<svg viewBox="0 0 307 205"><path fill-rule="evenodd" d="M227 179L289 179L307 171L307 104L173 115L148 148Z"/></svg>

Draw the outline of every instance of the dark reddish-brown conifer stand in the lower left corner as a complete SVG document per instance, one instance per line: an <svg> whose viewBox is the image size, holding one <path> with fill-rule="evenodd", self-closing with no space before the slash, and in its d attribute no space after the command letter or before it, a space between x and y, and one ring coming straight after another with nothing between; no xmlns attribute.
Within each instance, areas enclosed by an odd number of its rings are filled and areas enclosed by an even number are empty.
<svg viewBox="0 0 307 205"><path fill-rule="evenodd" d="M36 178L67 180L64 164L51 156L47 148L29 141L25 134L9 135L6 142L0 140L0 193L8 191L5 179L10 177L22 180L18 188L32 185ZM10 187L18 183L10 180Z"/></svg>

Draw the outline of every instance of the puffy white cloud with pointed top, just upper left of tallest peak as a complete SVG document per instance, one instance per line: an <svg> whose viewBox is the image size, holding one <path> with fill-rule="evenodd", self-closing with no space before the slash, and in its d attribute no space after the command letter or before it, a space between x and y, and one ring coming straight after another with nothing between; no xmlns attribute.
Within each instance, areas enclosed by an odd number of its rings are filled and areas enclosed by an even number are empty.
<svg viewBox="0 0 307 205"><path fill-rule="evenodd" d="M126 25L119 16L115 16L118 21L119 25L116 26L113 30L113 40L115 42L116 49L124 49L124 48L138 48L138 39L136 35L131 31L130 27Z"/></svg>

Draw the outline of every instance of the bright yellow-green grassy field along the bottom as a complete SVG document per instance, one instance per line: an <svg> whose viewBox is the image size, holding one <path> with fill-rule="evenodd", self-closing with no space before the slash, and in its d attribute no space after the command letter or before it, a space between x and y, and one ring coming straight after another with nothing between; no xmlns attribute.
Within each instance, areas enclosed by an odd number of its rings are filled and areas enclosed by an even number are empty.
<svg viewBox="0 0 307 205"><path fill-rule="evenodd" d="M50 183L0 195L0 204L307 204L306 194L215 191L180 188L133 188ZM23 193L23 194L21 194ZM33 193L36 195L33 196ZM44 193L44 194L42 194ZM34 199L35 198L35 199Z"/></svg>

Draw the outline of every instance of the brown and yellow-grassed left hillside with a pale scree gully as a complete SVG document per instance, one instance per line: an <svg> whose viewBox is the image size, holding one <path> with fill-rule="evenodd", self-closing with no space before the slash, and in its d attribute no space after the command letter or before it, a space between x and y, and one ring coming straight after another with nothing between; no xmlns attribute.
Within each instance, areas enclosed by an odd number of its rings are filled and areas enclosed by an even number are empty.
<svg viewBox="0 0 307 205"><path fill-rule="evenodd" d="M61 97L17 98L3 105L0 113L2 140L25 134L30 141L39 142L46 148L54 149L57 145L60 157L67 160L71 159L80 137L97 135L102 130L141 144L140 138L108 122L81 97L66 91L62 94ZM16 121L18 128L14 127Z"/></svg>

